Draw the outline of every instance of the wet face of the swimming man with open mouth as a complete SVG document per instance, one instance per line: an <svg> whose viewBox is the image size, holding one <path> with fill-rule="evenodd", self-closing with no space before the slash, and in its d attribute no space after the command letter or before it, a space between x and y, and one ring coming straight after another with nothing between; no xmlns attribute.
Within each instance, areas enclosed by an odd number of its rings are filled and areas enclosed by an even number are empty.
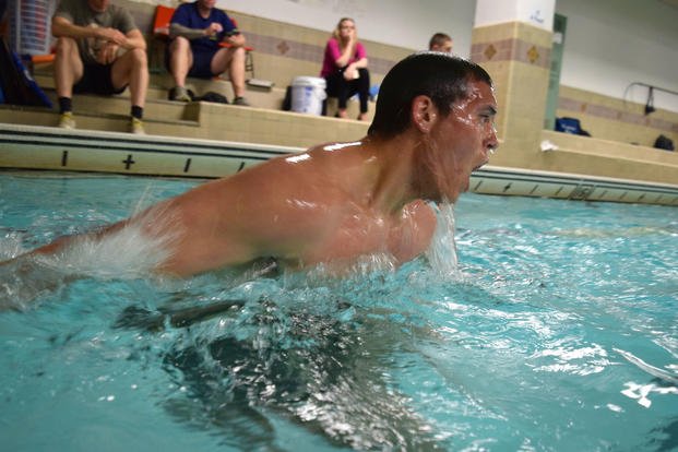
<svg viewBox="0 0 678 452"><path fill-rule="evenodd" d="M498 145L497 99L492 88L485 82L471 80L467 93L431 129L428 166L435 183L431 195L435 201L456 201L468 190L471 173L485 165Z"/></svg>

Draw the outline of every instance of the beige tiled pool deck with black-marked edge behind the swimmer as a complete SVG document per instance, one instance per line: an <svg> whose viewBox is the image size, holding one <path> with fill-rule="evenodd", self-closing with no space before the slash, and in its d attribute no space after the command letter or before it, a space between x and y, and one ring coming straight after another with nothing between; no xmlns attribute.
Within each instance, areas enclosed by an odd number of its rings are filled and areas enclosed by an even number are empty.
<svg viewBox="0 0 678 452"><path fill-rule="evenodd" d="M56 100L51 78L36 80ZM198 83L200 93L231 97L227 82ZM169 85L166 75L152 78L147 134L141 136L126 132L126 93L75 96L75 130L53 127L55 109L0 105L0 168L217 178L312 144L357 140L368 128L368 122L282 111L281 88L249 86L255 107L237 107L169 102ZM357 116L357 105L349 105L349 112ZM678 205L678 153L547 130L539 150L505 147L474 174L472 191Z"/></svg>

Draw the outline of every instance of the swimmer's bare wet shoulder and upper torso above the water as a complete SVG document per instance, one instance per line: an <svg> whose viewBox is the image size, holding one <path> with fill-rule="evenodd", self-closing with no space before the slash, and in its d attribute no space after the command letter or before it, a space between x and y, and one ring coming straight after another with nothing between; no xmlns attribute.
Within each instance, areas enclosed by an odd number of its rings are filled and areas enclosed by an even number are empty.
<svg viewBox="0 0 678 452"><path fill-rule="evenodd" d="M154 212L174 218L173 257L186 275L259 258L304 267L385 253L396 262L428 247L436 219L424 202L384 210L372 199L379 158L357 143L316 147L201 186ZM166 234L165 227L150 228Z"/></svg>

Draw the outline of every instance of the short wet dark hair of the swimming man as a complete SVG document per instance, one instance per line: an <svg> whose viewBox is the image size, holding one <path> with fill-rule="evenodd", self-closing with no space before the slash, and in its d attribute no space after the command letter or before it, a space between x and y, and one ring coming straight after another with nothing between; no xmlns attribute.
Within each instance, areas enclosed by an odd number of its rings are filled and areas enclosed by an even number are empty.
<svg viewBox="0 0 678 452"><path fill-rule="evenodd" d="M431 98L441 115L467 96L468 81L492 80L485 69L466 59L436 51L413 53L396 63L383 79L377 98L370 136L392 138L407 129L412 100L420 95Z"/></svg>

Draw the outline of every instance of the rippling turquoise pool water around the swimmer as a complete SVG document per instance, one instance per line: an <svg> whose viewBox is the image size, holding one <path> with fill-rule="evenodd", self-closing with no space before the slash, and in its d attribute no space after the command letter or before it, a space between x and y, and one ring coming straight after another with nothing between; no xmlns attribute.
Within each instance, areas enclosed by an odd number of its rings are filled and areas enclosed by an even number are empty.
<svg viewBox="0 0 678 452"><path fill-rule="evenodd" d="M2 174L0 257L194 183ZM466 194L455 216L452 275L86 278L0 312L3 448L678 448L678 211Z"/></svg>

